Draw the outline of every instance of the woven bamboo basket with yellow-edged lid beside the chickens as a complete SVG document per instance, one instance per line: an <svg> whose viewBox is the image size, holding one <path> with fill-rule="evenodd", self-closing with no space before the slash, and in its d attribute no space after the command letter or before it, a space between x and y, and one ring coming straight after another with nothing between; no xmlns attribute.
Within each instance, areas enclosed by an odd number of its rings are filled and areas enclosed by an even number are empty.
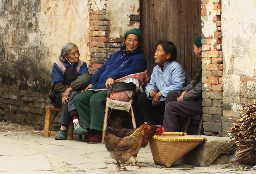
<svg viewBox="0 0 256 174"><path fill-rule="evenodd" d="M184 132L165 132L161 136L154 135L149 145L155 164L171 167L204 141L207 139L187 135Z"/></svg>

